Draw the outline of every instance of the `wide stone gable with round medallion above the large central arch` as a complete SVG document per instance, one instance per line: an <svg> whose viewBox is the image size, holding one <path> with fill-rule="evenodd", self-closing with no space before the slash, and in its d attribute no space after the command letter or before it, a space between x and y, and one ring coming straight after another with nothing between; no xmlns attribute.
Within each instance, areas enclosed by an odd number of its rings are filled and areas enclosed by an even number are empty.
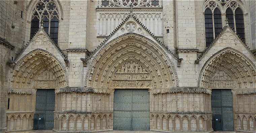
<svg viewBox="0 0 256 133"><path fill-rule="evenodd" d="M108 38L105 39L103 42L100 43L100 45L97 46L96 49L94 49L93 54L89 57L93 57L94 54L96 54L99 49L102 48L103 45L106 45L108 42L110 42L111 40L124 35L126 33L136 33L142 36L145 36L149 39L151 39L152 41L154 41L155 43L159 44L163 49L166 50L166 52L168 52L174 59L178 59L177 56L175 54L173 54L171 52L170 49L168 49L167 46L165 46L163 44L163 42L161 42L160 39L156 38L156 36L145 26L143 25L139 19L136 18L135 15L128 15L123 22L121 22L117 28L115 28L115 30L113 30L109 35Z"/></svg>

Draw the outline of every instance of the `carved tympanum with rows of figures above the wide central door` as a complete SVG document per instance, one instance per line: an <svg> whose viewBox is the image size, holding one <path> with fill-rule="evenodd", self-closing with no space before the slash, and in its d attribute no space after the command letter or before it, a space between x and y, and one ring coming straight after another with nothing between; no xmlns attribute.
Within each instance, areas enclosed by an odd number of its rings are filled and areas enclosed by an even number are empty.
<svg viewBox="0 0 256 133"><path fill-rule="evenodd" d="M115 71L111 81L113 88L149 88L153 76L138 61L127 61Z"/></svg>

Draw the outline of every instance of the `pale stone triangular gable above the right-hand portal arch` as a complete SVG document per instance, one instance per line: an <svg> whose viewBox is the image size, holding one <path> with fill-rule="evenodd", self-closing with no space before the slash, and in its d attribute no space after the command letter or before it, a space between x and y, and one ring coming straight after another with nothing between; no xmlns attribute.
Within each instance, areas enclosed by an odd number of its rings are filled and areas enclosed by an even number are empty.
<svg viewBox="0 0 256 133"><path fill-rule="evenodd" d="M206 47L203 53L197 59L200 61L207 54L214 54L225 47L232 47L234 49L237 49L241 53L244 53L244 51L248 51L247 53L250 53L250 56L255 58L253 53L250 51L249 46L245 44L240 37L238 37L238 35L229 25L226 25L222 29L221 33L213 40L211 45L209 47Z"/></svg>

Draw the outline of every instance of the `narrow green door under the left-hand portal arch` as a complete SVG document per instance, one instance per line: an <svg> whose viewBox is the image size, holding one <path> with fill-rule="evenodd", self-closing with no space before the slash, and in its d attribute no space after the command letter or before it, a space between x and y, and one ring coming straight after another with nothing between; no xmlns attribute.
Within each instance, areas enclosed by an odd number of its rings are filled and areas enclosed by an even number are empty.
<svg viewBox="0 0 256 133"><path fill-rule="evenodd" d="M54 126L54 89L37 89L34 129L52 130Z"/></svg>

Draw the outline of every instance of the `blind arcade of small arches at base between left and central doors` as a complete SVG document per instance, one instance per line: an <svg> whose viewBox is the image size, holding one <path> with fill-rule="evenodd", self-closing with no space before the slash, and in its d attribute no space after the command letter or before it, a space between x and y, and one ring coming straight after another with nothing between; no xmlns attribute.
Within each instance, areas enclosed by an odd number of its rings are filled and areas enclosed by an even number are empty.
<svg viewBox="0 0 256 133"><path fill-rule="evenodd" d="M111 112L54 113L56 132L105 132L113 130Z"/></svg>

